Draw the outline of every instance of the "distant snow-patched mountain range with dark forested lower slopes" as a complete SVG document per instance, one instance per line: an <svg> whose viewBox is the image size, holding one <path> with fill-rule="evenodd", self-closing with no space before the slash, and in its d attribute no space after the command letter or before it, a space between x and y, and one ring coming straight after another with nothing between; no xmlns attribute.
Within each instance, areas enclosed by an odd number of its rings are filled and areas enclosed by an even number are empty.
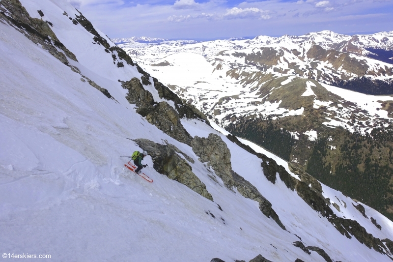
<svg viewBox="0 0 393 262"><path fill-rule="evenodd" d="M393 31L120 46L227 131L393 219Z"/></svg>

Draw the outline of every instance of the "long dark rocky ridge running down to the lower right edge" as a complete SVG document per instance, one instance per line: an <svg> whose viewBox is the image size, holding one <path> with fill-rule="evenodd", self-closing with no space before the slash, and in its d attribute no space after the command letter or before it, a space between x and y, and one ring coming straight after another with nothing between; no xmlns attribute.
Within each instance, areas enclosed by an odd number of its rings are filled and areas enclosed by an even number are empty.
<svg viewBox="0 0 393 262"><path fill-rule="evenodd" d="M386 248L383 242L374 237L372 234L367 233L364 227L362 227L357 221L351 219L344 219L337 217L333 210L327 204L325 198L322 196L322 187L318 180L310 176L309 174L292 167L295 174L299 175L300 181L288 174L288 172L281 166L278 166L276 161L268 158L266 155L256 153L250 146L242 144L235 136L229 134L227 138L238 146L242 147L246 151L256 155L262 159L262 165L264 162L269 162L270 174L277 172L281 180L285 183L288 189L296 190L297 194L315 211L319 212L323 217L332 223L332 225L348 238L354 236L359 242L365 244L368 248L373 248L375 251L381 254L390 254L390 250ZM267 161L266 161L267 160ZM289 166L291 168L291 166ZM263 166L262 166L263 168ZM265 169L264 169L265 171ZM264 172L265 173L265 172ZM276 180L271 175L266 175L269 181L274 183ZM311 184L311 187L309 187ZM390 240L389 240L390 241ZM387 241L386 241L387 242ZM389 255L388 255L389 256ZM390 257L390 256L389 256Z"/></svg>

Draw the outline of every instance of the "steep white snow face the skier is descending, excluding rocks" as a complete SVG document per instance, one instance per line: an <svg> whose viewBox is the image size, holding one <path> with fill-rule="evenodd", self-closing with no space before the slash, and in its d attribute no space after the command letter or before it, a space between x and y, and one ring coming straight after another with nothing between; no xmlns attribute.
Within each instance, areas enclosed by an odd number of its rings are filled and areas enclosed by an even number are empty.
<svg viewBox="0 0 393 262"><path fill-rule="evenodd" d="M22 0L22 4L31 17L40 18L37 10L42 11L43 19L53 24L58 39L78 59L69 62L106 88L113 99L21 32L0 23L3 253L50 254L55 261L199 262L214 257L233 261L250 260L258 254L271 261L325 261L315 252L308 255L295 247L293 242L299 236L306 245L324 249L335 261L390 261L355 237L341 235L280 177L275 184L268 181L259 158L207 124L183 118L192 136L221 136L231 152L233 170L272 203L287 228L282 230L260 212L256 202L225 188L190 146L135 112L117 80L140 79L141 74L127 63L123 67L113 64L105 47L72 22L79 13L67 1ZM121 156L141 148L127 138L167 142L189 155L195 163L188 164L214 202L157 173L150 156L144 160L148 167L143 171L153 183L130 173L124 168L128 158ZM332 201L337 196L340 203L347 204L338 215L359 221L375 237L393 239L393 223L388 219L365 206L366 214L381 225L378 230L352 208L351 199L328 187L323 189Z"/></svg>

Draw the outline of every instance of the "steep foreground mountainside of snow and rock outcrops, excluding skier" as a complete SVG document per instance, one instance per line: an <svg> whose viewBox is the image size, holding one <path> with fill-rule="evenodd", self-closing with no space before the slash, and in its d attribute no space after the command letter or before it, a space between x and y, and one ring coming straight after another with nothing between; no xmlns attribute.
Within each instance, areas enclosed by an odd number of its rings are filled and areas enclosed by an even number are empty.
<svg viewBox="0 0 393 262"><path fill-rule="evenodd" d="M391 221L209 125L67 1L1 0L0 8L6 252L62 261L391 260ZM44 32L76 59L54 52ZM153 183L120 158L143 148Z"/></svg>

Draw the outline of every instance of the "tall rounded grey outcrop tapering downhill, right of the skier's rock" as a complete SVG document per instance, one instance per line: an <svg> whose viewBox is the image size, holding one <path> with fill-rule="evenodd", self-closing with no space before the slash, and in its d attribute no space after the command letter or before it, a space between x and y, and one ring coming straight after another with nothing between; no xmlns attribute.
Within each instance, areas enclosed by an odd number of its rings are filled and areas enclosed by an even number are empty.
<svg viewBox="0 0 393 262"><path fill-rule="evenodd" d="M272 204L249 181L232 170L229 148L220 136L212 133L207 138L196 136L191 142L191 146L196 155L199 156L199 160L202 163L208 162L207 165L214 169L216 175L223 180L229 190L236 188L243 197L258 202L262 213L267 217L271 217L285 230L279 216L272 208Z"/></svg>

